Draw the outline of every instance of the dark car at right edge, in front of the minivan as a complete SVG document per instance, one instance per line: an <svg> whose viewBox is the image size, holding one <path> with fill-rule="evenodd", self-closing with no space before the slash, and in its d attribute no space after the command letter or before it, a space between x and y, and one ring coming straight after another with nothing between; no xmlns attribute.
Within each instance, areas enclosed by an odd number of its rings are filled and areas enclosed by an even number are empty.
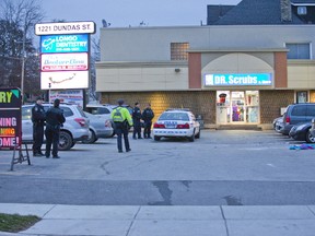
<svg viewBox="0 0 315 236"><path fill-rule="evenodd" d="M315 143L315 137L311 132L312 122L295 125L291 128L289 137L296 141L306 141Z"/></svg>

